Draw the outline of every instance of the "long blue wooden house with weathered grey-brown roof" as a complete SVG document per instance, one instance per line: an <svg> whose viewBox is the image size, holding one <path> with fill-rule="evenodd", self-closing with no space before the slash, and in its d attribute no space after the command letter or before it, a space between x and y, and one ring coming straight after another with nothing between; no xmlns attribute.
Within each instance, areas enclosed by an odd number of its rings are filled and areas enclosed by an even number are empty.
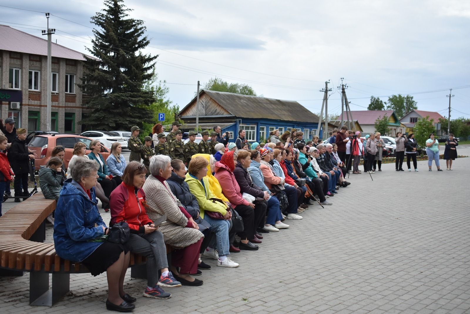
<svg viewBox="0 0 470 314"><path fill-rule="evenodd" d="M246 131L250 142L266 142L271 131L278 129L282 134L292 128L304 132L304 139L312 139L319 119L298 102L211 90L200 91L198 112L202 129L219 125L222 133L230 132L230 141L235 141L239 129ZM178 116L185 123L183 129L194 130L196 97ZM320 132L322 130L321 126Z"/></svg>

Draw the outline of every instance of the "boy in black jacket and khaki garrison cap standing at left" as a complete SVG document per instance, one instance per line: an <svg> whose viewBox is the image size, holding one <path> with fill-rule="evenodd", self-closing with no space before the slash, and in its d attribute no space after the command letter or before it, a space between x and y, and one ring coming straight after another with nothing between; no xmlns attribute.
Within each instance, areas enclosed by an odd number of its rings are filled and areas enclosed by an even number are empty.
<svg viewBox="0 0 470 314"><path fill-rule="evenodd" d="M29 196L29 164L30 159L34 159L34 155L29 152L26 146L26 129L17 129L16 135L16 139L8 149L8 161L15 173L15 202L20 202L20 197L25 200Z"/></svg>

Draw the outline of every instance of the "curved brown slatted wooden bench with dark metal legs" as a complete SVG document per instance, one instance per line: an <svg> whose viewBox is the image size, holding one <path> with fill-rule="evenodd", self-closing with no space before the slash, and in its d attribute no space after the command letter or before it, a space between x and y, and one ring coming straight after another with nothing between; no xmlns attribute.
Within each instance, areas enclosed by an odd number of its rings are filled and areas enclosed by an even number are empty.
<svg viewBox="0 0 470 314"><path fill-rule="evenodd" d="M45 221L54 210L55 200L37 193L0 217L0 275L21 276L30 272L31 305L54 305L70 291L70 274L89 273L81 263L60 258L54 243L43 243ZM166 250L170 259L171 248L167 246ZM131 277L147 278L145 257L131 253L129 267Z"/></svg>

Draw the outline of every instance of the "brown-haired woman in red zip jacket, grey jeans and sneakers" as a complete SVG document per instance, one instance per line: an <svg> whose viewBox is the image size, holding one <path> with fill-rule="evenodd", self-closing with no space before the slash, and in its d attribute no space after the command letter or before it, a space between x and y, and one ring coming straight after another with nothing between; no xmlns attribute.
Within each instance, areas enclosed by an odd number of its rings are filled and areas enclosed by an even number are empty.
<svg viewBox="0 0 470 314"><path fill-rule="evenodd" d="M110 195L110 226L121 221L127 222L131 230L128 243L132 251L147 257L147 288L143 296L170 298L171 293L164 292L160 287L180 287L181 283L168 271L163 234L157 231L158 227L147 216L147 203L142 190L146 173L145 166L137 161L125 167L122 183ZM160 277L158 270L162 273ZM131 302L135 302L135 298Z"/></svg>

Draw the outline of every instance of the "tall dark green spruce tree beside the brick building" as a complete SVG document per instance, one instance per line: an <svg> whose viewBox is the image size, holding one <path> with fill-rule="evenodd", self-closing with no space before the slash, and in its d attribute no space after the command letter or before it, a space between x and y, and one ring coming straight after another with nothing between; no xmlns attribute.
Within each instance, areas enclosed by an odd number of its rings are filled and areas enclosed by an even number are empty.
<svg viewBox="0 0 470 314"><path fill-rule="evenodd" d="M142 122L152 123L153 91L144 88L152 78L158 55L144 55L150 43L142 20L129 18L123 0L105 0L105 8L91 18L94 57L84 62L84 103L91 111L82 123L100 130L128 130Z"/></svg>

